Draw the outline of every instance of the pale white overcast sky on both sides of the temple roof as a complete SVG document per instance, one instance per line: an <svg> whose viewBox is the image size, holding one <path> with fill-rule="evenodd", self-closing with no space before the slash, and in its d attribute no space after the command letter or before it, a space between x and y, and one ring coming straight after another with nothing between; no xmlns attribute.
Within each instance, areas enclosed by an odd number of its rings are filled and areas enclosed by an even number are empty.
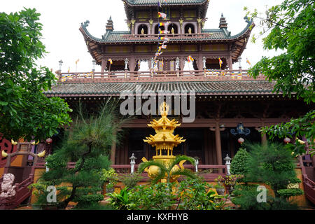
<svg viewBox="0 0 315 224"><path fill-rule="evenodd" d="M221 13L228 22L228 30L231 35L238 34L246 27L244 21L244 6L251 10L257 8L260 12L265 12L266 6L279 4L279 0L210 0L207 22L204 29L217 29L221 18ZM43 24L43 43L49 52L38 64L48 66L53 71L59 69L60 59L64 62L62 71L76 70L76 60L78 62L77 71L91 71L92 56L87 52L87 47L83 35L78 30L81 22L90 20L87 27L90 34L102 38L105 33L106 22L111 16L113 26L116 31L127 30L125 23L126 15L121 0L10 0L0 1L1 12L17 12L26 8L36 8L41 13L40 22ZM253 29L253 33L258 34L258 29ZM261 38L255 43L248 41L247 48L242 57L243 69L248 68L246 57L255 64L262 55L272 56L276 52L267 52L262 49ZM233 64L234 69L238 69L238 63ZM96 66L96 71L100 71L100 66Z"/></svg>

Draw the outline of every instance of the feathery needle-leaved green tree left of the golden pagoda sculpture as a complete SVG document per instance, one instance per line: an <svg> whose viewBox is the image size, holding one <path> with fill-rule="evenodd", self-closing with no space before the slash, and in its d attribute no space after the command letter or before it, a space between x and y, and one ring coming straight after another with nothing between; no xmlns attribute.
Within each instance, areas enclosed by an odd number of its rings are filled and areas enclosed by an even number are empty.
<svg viewBox="0 0 315 224"><path fill-rule="evenodd" d="M118 117L117 109L117 104L109 100L97 114L85 117L81 113L62 147L46 158L50 170L42 179L58 186L60 209L66 208L69 202L88 207L104 198L99 193L104 183L103 171L110 166L111 144L119 141L113 133L126 121ZM76 166L69 169L68 162L76 162ZM60 186L62 183L67 186Z"/></svg>

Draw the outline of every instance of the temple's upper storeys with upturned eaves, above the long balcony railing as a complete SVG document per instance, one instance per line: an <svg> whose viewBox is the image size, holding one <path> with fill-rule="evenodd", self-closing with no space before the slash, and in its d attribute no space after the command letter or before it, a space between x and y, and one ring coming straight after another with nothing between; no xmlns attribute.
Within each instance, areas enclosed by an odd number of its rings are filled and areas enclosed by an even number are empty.
<svg viewBox="0 0 315 224"><path fill-rule="evenodd" d="M193 69L230 69L246 48L251 29L255 26L245 18L244 30L231 35L224 16L218 18L218 29L204 29L207 21L208 0L123 0L128 31L114 31L110 18L102 37L87 31L88 21L80 31L87 48L102 72L139 71L140 62L152 59L159 42L167 39L167 48L158 57L159 71L183 71L188 56L193 58ZM158 9L163 17L158 16ZM218 63L218 58L222 64ZM111 60L109 60L111 59ZM112 64L110 64L112 62Z"/></svg>

